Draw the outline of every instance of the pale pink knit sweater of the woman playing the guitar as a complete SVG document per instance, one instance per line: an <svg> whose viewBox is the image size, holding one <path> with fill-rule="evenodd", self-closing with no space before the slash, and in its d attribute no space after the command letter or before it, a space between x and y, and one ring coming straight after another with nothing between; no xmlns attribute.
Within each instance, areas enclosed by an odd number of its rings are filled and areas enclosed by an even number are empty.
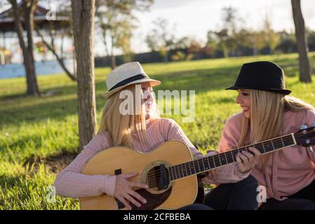
<svg viewBox="0 0 315 224"><path fill-rule="evenodd" d="M186 137L179 125L174 120L160 118L154 122L147 124L147 143L140 142L136 137L133 137L135 150L147 153L152 151L163 142L177 139L183 141L192 151L196 158L202 155L197 151L194 145ZM106 148L111 147L111 140L107 132L97 134L87 146L84 146L83 151L74 159L74 161L66 167L56 177L54 186L56 193L64 197L93 197L106 193L113 196L115 191L116 176L109 175L86 175L81 174L86 162L96 153ZM214 153L208 151L208 153ZM230 183L245 179L247 174L241 174L236 169L236 164L227 165L216 169L217 179L215 183ZM208 179L205 179L209 183Z"/></svg>

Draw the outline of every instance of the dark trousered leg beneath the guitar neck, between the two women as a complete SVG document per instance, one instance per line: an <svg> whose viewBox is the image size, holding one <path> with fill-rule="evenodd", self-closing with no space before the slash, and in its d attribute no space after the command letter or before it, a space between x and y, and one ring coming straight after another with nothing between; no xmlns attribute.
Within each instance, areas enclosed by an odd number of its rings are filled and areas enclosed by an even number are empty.
<svg viewBox="0 0 315 224"><path fill-rule="evenodd" d="M258 182L248 176L237 183L224 183L205 196L204 204L215 210L255 210L257 202Z"/></svg>

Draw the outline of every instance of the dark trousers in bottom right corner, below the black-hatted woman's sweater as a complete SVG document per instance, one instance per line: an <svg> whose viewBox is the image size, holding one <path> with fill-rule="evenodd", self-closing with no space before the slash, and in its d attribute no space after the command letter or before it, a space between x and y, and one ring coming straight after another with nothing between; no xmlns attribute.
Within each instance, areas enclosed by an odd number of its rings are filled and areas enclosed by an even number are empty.
<svg viewBox="0 0 315 224"><path fill-rule="evenodd" d="M315 180L286 200L268 199L260 206L261 210L315 210Z"/></svg>

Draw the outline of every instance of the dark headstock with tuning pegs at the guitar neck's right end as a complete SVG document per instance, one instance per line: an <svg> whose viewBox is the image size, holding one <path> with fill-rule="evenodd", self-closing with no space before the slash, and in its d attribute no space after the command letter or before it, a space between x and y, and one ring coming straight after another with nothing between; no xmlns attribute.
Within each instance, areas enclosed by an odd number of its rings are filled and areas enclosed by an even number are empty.
<svg viewBox="0 0 315 224"><path fill-rule="evenodd" d="M294 137L297 145L305 147L315 145L315 123L310 126L302 125Z"/></svg>

